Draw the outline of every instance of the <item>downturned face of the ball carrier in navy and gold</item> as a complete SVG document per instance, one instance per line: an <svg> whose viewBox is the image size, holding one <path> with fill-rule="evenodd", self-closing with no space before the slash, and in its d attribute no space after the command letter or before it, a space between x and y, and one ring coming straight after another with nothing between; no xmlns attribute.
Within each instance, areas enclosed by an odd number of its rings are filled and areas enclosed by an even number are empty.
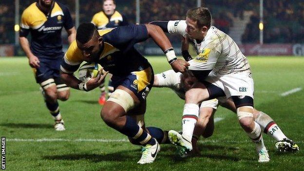
<svg viewBox="0 0 304 171"><path fill-rule="evenodd" d="M98 55L102 47L102 38L99 36L97 31L95 31L95 34L88 42L84 44L80 43L79 41L76 42L78 48L82 52L82 55L85 57L85 61L95 62L98 60Z"/></svg>

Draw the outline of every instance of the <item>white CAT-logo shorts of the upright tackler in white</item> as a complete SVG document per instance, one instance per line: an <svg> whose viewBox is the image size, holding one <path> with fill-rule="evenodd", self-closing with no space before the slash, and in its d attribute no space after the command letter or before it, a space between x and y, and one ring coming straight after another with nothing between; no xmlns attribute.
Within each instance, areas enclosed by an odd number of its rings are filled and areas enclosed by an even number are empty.
<svg viewBox="0 0 304 171"><path fill-rule="evenodd" d="M210 73L206 81L222 89L227 98L230 96L250 96L253 98L253 79L248 74L218 76Z"/></svg>

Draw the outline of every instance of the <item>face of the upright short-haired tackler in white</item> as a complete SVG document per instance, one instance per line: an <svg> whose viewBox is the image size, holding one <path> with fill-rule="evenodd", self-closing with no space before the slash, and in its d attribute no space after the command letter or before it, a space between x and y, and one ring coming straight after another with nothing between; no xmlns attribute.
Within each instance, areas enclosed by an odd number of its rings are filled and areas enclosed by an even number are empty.
<svg viewBox="0 0 304 171"><path fill-rule="evenodd" d="M189 35L189 38L192 39L203 39L202 30L198 27L197 21L186 18L186 32Z"/></svg>

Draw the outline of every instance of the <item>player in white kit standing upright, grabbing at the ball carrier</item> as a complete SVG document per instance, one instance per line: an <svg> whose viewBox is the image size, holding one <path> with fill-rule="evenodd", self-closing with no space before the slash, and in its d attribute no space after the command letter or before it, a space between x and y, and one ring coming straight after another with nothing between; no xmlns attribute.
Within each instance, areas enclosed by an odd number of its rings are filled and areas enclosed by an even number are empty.
<svg viewBox="0 0 304 171"><path fill-rule="evenodd" d="M261 127L253 119L254 87L248 60L232 38L211 26L209 9L193 8L188 10L186 20L156 24L171 34L190 38L198 53L197 57L189 61L189 70L198 81L185 95L183 132L179 134L174 130L169 131L171 142L190 152L193 130L199 114L198 104L221 96L231 97L240 125L256 146L258 161L268 162L270 159L263 142Z"/></svg>

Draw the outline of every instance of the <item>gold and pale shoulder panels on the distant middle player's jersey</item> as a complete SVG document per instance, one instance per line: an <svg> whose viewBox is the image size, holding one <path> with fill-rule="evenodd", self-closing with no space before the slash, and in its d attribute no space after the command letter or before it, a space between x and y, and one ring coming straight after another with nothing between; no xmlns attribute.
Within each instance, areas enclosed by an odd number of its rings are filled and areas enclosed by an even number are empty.
<svg viewBox="0 0 304 171"><path fill-rule="evenodd" d="M114 20L120 20L120 21L122 21L122 15L119 12L117 12L117 11L115 11L114 14L110 18L110 21L114 21ZM93 19L92 19L91 22L98 29L101 29L101 28L104 28L110 21L109 21L108 17L104 14L104 12L100 11L99 13L96 13L93 16Z"/></svg>

